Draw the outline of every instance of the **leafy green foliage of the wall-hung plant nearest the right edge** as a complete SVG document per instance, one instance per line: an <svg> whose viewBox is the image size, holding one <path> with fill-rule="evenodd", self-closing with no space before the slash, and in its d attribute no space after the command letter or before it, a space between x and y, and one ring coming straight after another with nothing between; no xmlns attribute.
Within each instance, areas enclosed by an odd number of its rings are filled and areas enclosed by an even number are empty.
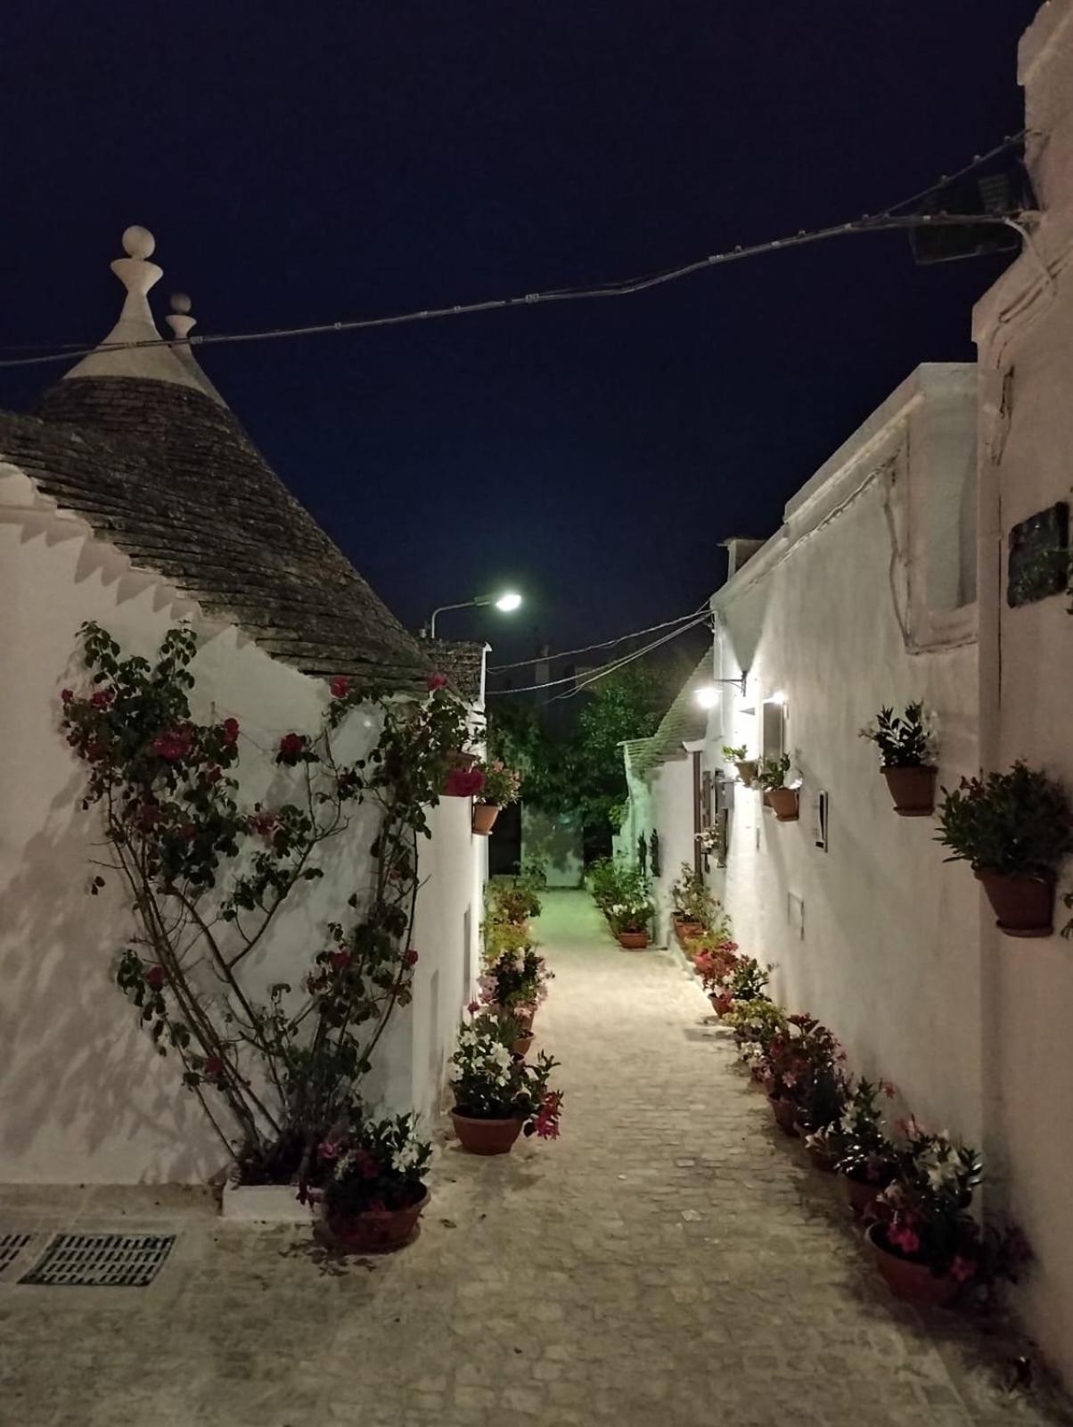
<svg viewBox="0 0 1073 1427"><path fill-rule="evenodd" d="M966 860L973 872L1053 880L1073 852L1073 811L1066 791L1046 773L1017 762L1007 773L962 778L943 788L937 842L952 849L947 862Z"/></svg>

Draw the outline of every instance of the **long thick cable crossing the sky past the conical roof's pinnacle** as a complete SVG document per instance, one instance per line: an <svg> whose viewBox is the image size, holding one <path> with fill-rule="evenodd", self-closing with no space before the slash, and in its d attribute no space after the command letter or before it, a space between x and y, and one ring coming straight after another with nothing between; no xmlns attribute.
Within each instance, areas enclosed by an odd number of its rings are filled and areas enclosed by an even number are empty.
<svg viewBox="0 0 1073 1427"><path fill-rule="evenodd" d="M1003 153L1013 144L1020 141L1020 134L1009 136L1002 144L992 148L989 153L982 154L979 158L973 158L970 164L959 170L955 177L963 177L966 173L972 173L973 168L979 168L980 164L987 163L996 154ZM920 194L913 195L913 198L902 200L899 204L892 204L878 214L862 214L860 218L849 223L830 224L826 228L813 228L812 231L805 231L800 228L796 234L785 238L771 238L766 243L752 243L748 245L738 245L729 248L723 253L711 253L708 257L696 258L692 263L682 263L676 267L663 268L658 273L651 273L644 277L631 277L609 283L596 283L586 287L565 287L565 288L549 288L539 293L525 293L517 297L497 297L488 298L481 303L455 303L445 307L431 307L421 308L412 313L398 313L388 317L361 317L334 323L310 323L302 327L270 327L258 331L250 332L217 332L217 334L197 334L191 332L190 337L184 338L190 347L218 347L224 344L234 342L260 342L260 341L278 341L281 338L291 337L315 337L325 332L354 332L354 331L368 331L378 327L402 327L412 323L435 321L444 317L465 317L475 313L494 313L507 311L514 307L536 307L548 305L551 303L579 303L592 301L602 297L631 297L636 293L646 293L655 287L662 287L666 283L676 283L682 278L692 277L695 273L701 273L705 268L721 267L726 263L738 263L742 258L758 257L763 253L776 253L783 248L798 248L805 247L812 243L822 243L826 238L839 238L852 233L880 233L890 228L916 228L916 227L943 227L943 225L965 225L965 224L1006 224L1009 218L1017 217L1017 214L949 214L949 213L920 213L920 214L905 214L899 215L893 213L893 208L906 207L909 203L919 201L929 194L942 190L950 178L942 178L939 183L933 184L930 188L925 188ZM71 357L88 357L91 352L113 352L113 351L138 351L141 348L154 347L173 347L176 341L173 338L150 338L138 342L97 342L94 345L66 345L63 348L53 350L46 355L40 357L13 357L0 361L0 368L11 367L39 367L47 362L68 361ZM11 350L9 347L9 350ZM23 345L19 350L27 350Z"/></svg>

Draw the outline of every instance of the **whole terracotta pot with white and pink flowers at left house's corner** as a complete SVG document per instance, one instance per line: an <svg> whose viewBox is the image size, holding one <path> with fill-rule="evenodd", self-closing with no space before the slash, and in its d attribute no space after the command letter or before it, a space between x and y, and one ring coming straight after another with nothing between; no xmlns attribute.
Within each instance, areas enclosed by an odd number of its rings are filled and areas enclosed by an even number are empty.
<svg viewBox="0 0 1073 1427"><path fill-rule="evenodd" d="M541 1052L529 1065L511 1050L511 1029L481 1012L458 1032L451 1056L451 1120L471 1154L507 1154L518 1136L555 1139L562 1095L548 1087L556 1062Z"/></svg>

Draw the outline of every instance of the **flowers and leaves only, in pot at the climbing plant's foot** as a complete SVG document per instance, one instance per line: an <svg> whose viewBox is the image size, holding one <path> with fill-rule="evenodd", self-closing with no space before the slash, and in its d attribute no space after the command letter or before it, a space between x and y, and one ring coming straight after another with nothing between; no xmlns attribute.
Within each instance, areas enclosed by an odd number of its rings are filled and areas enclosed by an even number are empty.
<svg viewBox="0 0 1073 1427"><path fill-rule="evenodd" d="M361 1110L317 1146L317 1179L331 1213L408 1209L425 1193L432 1146L417 1133L417 1116L374 1120Z"/></svg>

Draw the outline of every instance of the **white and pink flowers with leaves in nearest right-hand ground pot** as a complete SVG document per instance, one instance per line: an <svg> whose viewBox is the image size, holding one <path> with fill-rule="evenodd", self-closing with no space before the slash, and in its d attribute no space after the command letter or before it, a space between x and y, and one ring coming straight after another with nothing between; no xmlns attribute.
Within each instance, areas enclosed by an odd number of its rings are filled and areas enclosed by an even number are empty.
<svg viewBox="0 0 1073 1427"><path fill-rule="evenodd" d="M1030 1257L1020 1232L982 1226L969 1213L983 1182L980 1154L946 1134L929 1134L915 1119L905 1132L896 1176L876 1200L883 1247L959 1283L1016 1281Z"/></svg>

